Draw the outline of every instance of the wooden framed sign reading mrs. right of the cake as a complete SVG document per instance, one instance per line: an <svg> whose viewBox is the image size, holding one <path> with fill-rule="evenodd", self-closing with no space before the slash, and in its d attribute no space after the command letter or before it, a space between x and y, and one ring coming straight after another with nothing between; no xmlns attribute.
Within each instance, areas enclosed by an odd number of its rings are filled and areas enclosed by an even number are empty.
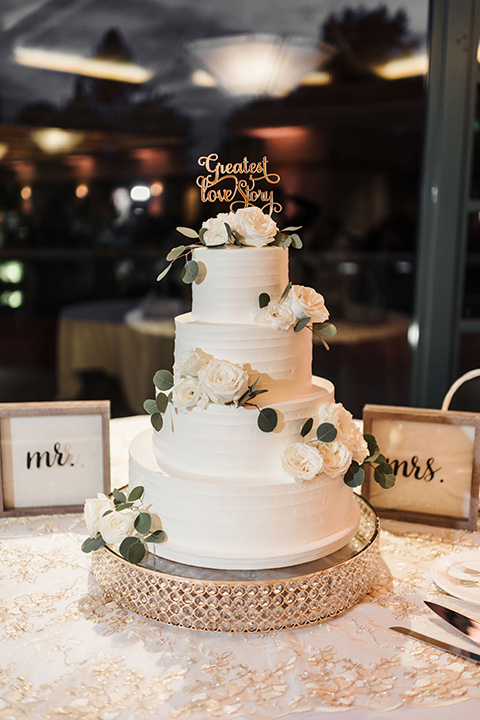
<svg viewBox="0 0 480 720"><path fill-rule="evenodd" d="M480 414L365 405L363 421L397 475L384 490L366 470L362 495L381 517L477 529Z"/></svg>

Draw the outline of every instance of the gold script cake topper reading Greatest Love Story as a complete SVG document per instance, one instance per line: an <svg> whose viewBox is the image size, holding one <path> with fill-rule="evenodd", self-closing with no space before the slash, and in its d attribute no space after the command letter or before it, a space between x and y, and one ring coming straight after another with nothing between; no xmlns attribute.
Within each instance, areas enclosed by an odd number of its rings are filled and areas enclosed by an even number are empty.
<svg viewBox="0 0 480 720"><path fill-rule="evenodd" d="M260 201L263 203L262 210L269 208L270 215L282 211L280 203L273 199L272 189L262 190L257 187L257 183L262 180L273 185L280 182L280 175L268 172L266 156L260 162L250 162L245 156L241 162L222 165L218 162L218 155L211 153L198 158L198 164L208 173L197 177L202 202L229 202L233 212L238 206L248 207ZM247 178L239 178L239 175L246 175ZM228 181L232 181L232 185L228 186ZM221 187L216 187L218 185Z"/></svg>

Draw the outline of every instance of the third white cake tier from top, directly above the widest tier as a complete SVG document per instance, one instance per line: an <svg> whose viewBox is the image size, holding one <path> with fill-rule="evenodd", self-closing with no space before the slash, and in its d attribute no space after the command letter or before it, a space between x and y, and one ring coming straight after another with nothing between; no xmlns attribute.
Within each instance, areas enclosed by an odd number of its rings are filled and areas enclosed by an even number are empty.
<svg viewBox="0 0 480 720"><path fill-rule="evenodd" d="M274 403L270 403L270 393L258 397L277 412L278 424L270 433L259 429L255 407L210 405L182 412L170 405L162 429L153 435L159 466L177 476L224 477L226 484L242 477L254 485L258 478L270 476L293 482L283 470L281 453L298 442L305 421L317 417L323 403L334 402L332 383L312 379L310 392L299 397Z"/></svg>

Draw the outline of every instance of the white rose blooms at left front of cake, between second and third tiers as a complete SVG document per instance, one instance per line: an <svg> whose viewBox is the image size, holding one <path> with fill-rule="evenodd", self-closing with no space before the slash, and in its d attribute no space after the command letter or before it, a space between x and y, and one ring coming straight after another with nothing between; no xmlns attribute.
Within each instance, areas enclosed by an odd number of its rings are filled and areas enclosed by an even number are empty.
<svg viewBox="0 0 480 720"><path fill-rule="evenodd" d="M180 411L209 403L235 403L248 389L248 373L242 365L218 360L199 350L186 350L174 365L173 406Z"/></svg>

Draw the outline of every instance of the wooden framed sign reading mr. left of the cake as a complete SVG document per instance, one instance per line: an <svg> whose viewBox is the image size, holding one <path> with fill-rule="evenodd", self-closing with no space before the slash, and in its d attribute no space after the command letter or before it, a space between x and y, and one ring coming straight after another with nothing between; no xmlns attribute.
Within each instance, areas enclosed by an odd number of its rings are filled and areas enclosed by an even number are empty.
<svg viewBox="0 0 480 720"><path fill-rule="evenodd" d="M0 516L81 512L110 492L110 402L0 403Z"/></svg>

